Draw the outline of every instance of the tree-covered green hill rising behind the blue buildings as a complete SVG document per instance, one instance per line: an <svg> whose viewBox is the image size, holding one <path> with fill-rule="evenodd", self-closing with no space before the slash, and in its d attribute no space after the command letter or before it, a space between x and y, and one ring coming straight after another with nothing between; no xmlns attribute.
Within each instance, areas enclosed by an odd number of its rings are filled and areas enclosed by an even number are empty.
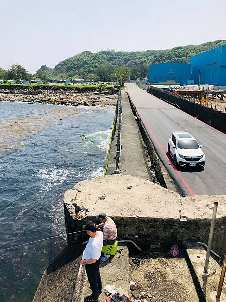
<svg viewBox="0 0 226 302"><path fill-rule="evenodd" d="M38 71L45 72L48 77L56 78L61 75L67 77L84 77L85 73L95 74L100 64L111 63L115 67L133 67L139 64L153 64L163 62L189 62L192 55L226 44L226 40L216 40L200 45L178 46L166 50L146 51L114 51L102 50L97 53L83 51L65 59L53 69L42 65Z"/></svg>

